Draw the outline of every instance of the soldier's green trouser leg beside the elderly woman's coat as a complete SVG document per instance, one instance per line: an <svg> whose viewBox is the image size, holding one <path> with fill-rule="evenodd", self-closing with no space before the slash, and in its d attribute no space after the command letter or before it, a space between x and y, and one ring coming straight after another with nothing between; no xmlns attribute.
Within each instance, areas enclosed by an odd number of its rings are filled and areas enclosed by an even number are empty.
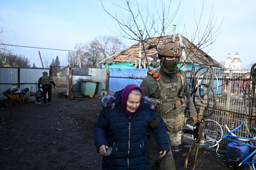
<svg viewBox="0 0 256 170"><path fill-rule="evenodd" d="M150 131L150 143L155 153L155 162L150 170L176 170L172 151L168 151L164 157L159 156L159 147L154 132Z"/></svg>

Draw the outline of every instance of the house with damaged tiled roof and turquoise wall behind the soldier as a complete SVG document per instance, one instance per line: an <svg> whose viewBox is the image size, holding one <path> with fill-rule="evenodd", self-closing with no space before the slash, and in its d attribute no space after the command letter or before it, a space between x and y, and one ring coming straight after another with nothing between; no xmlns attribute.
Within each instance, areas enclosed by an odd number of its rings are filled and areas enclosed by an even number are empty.
<svg viewBox="0 0 256 170"><path fill-rule="evenodd" d="M150 69L157 68L159 60L157 57L156 47L166 41L173 41L173 35L148 38L144 42L145 50L143 50L143 45L139 42L128 49L122 50L113 56L105 58L99 64L104 69L146 69L148 66ZM175 34L175 43L180 45L182 48L180 63L184 63L186 61L183 69L192 66L198 67L200 65L223 68L220 63L210 57L203 50L198 49L195 44L182 36L182 34Z"/></svg>

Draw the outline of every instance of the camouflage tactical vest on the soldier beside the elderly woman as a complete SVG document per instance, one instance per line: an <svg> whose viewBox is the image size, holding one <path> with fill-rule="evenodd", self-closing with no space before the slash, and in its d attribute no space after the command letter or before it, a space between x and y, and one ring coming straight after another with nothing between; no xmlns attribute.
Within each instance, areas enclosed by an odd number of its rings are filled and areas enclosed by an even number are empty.
<svg viewBox="0 0 256 170"><path fill-rule="evenodd" d="M157 70L157 73L160 75L159 70ZM186 101L187 98L184 96L183 103L176 107L175 109L169 111L168 113L165 113L169 108L173 107L174 104L176 104L177 101L180 101L181 98L178 96L180 89L182 88L185 77L183 77L181 74L176 74L177 82L170 82L170 83L164 83L162 81L162 78L156 79L157 85L158 85L158 93L160 98L151 98L152 101L155 103L155 111L159 113L162 118L169 119L170 117L178 116L180 114L184 114L184 110L186 108Z"/></svg>

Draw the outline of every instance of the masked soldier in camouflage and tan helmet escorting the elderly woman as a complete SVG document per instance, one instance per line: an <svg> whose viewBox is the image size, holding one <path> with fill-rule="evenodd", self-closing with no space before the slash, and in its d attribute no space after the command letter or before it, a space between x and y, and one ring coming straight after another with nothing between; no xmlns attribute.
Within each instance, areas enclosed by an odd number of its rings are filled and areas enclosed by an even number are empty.
<svg viewBox="0 0 256 170"><path fill-rule="evenodd" d="M186 75L182 70L177 69L182 50L174 42L167 42L159 46L157 53L161 66L157 70L150 69L140 87L144 95L150 97L155 103L156 112L162 116L172 150L181 151L183 148L182 128L187 121L184 114L186 107L190 111L192 125L195 125L197 121L195 106L189 88L187 88ZM152 125L151 128L154 128L157 122L149 124L149 128L150 125ZM150 138L153 148L157 148L153 133ZM152 169L175 170L172 152L169 151L163 158L157 157Z"/></svg>

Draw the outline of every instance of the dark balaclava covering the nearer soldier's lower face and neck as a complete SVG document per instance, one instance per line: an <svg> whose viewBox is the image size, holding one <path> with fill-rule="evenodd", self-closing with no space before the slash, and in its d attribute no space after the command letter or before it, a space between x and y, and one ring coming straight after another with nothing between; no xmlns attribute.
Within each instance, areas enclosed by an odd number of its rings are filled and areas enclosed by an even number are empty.
<svg viewBox="0 0 256 170"><path fill-rule="evenodd" d="M177 71L177 64L178 64L179 60L175 59L175 60L166 60L165 57L163 57L162 60L162 65L160 67L161 71L164 72L167 75L172 75L174 73L176 73Z"/></svg>

